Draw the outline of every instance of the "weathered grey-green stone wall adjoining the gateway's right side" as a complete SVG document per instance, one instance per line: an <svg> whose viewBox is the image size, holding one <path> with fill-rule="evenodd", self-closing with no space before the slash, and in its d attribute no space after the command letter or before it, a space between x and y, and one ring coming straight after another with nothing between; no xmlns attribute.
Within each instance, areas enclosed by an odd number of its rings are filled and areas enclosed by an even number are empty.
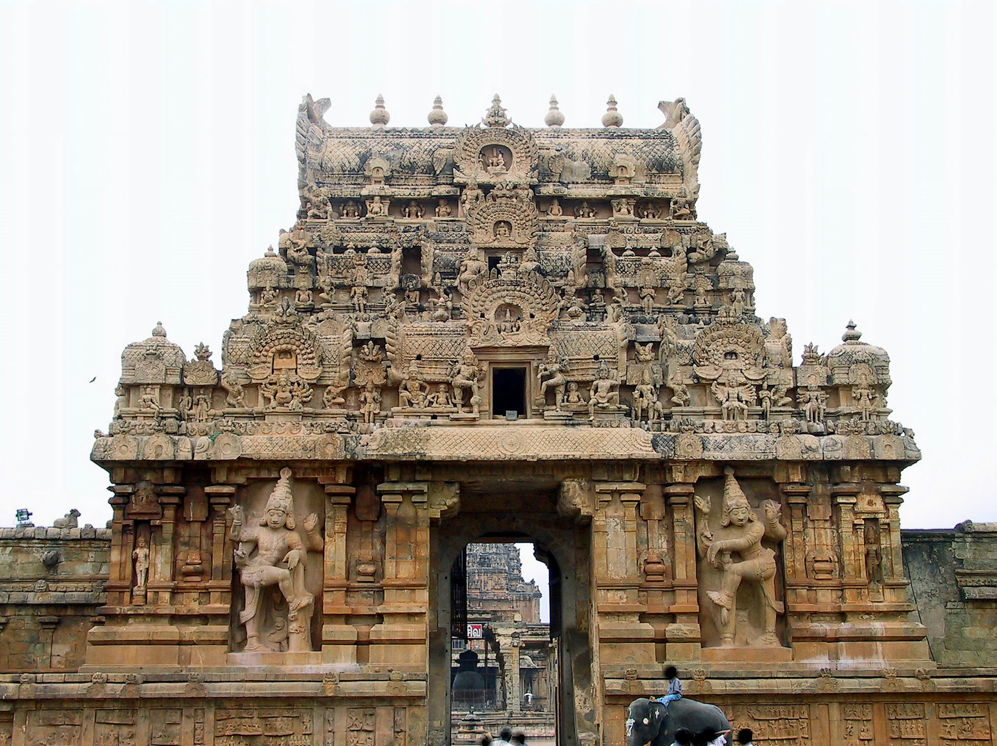
<svg viewBox="0 0 997 746"><path fill-rule="evenodd" d="M997 666L997 524L901 532L903 561L939 666Z"/></svg>

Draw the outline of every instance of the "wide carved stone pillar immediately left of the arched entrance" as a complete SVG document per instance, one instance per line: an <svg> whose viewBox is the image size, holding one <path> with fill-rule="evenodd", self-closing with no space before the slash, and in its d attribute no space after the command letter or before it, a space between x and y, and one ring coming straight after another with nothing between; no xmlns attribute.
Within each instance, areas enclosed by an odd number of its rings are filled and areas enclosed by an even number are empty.
<svg viewBox="0 0 997 746"><path fill-rule="evenodd" d="M384 603L370 631L370 663L424 671L428 664L429 510L426 482L378 485L384 504Z"/></svg>

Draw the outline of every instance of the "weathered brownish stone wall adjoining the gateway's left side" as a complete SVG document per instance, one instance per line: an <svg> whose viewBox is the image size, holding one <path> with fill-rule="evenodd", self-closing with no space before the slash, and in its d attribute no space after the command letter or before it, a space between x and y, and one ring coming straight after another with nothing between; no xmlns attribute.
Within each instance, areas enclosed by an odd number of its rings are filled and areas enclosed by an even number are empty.
<svg viewBox="0 0 997 746"><path fill-rule="evenodd" d="M110 559L110 529L0 529L0 670L79 668Z"/></svg>

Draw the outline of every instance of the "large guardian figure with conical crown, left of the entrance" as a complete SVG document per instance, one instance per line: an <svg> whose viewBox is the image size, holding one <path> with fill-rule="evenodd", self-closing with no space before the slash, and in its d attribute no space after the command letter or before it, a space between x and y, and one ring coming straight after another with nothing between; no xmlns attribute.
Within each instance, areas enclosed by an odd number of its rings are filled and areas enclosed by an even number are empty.
<svg viewBox="0 0 997 746"><path fill-rule="evenodd" d="M246 527L242 509L233 507L230 539L236 544L235 566L245 591L245 606L239 612L239 622L245 625L246 652L267 649L260 642L261 626L275 617L272 598L265 598L265 589L276 585L287 602L288 649L311 649L311 634L307 620L315 601L305 588L305 566L308 551L321 552L323 542L318 531L318 516L310 514L303 522L307 542L295 531L294 496L290 487L291 470L280 470L277 482L266 501L266 509L258 527Z"/></svg>

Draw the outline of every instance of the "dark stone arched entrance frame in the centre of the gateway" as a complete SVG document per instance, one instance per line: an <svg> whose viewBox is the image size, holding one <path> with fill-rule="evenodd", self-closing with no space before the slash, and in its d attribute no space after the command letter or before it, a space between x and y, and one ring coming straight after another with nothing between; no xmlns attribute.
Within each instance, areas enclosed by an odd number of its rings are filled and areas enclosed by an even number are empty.
<svg viewBox="0 0 997 746"><path fill-rule="evenodd" d="M501 496L507 498L507 496ZM430 741L454 743L451 733L451 661L453 655L452 624L455 610L452 597L452 573L455 562L472 543L533 543L536 556L547 565L550 578L550 637L555 645L554 701L556 742L558 746L576 746L579 712L588 715L592 702L590 593L588 566L588 527L558 516L553 494L537 494L530 501L533 510L475 510L498 506L500 501L469 500L462 494L462 511L453 519L440 523L432 542L436 545L431 568L432 596L430 631L429 701ZM434 614L435 612L435 614ZM433 618L435 615L435 619ZM446 693L446 696L439 694ZM518 709L520 692L506 692L510 708ZM513 703L513 697L515 702ZM588 715L590 717L590 715ZM515 727L515 723L510 723ZM493 734L498 735L498 734ZM528 734L527 734L528 735Z"/></svg>

